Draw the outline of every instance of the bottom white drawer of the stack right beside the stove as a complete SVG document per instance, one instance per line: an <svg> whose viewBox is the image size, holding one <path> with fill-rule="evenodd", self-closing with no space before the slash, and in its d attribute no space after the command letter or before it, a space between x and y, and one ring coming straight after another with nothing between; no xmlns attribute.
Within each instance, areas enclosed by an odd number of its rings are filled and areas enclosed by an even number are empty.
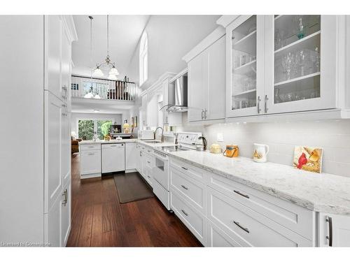
<svg viewBox="0 0 350 262"><path fill-rule="evenodd" d="M174 191L170 192L170 205L183 224L203 245L207 240L207 219Z"/></svg>

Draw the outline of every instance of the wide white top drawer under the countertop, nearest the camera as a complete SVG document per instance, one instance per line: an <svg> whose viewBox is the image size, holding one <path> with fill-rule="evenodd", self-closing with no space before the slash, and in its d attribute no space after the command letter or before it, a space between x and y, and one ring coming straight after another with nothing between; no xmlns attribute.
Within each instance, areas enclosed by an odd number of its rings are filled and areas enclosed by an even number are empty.
<svg viewBox="0 0 350 262"><path fill-rule="evenodd" d="M209 187L309 240L314 239L314 212L219 175L209 175Z"/></svg>

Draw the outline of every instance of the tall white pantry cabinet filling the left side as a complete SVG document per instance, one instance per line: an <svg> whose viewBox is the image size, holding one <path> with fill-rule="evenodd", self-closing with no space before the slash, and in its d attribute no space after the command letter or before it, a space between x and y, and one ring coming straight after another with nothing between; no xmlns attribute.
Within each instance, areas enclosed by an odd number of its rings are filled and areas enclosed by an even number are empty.
<svg viewBox="0 0 350 262"><path fill-rule="evenodd" d="M0 241L65 246L71 224L71 43L66 15L1 16ZM6 24L6 27L4 26ZM10 108L10 110L8 110ZM6 152L6 153L3 153ZM3 165L6 163L6 165ZM27 243L27 244L26 244Z"/></svg>

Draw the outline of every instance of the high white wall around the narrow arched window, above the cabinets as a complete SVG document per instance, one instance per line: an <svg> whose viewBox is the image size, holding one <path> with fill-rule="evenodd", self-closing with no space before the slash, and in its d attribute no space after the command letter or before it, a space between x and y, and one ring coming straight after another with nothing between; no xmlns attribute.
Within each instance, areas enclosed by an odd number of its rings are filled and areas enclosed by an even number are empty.
<svg viewBox="0 0 350 262"><path fill-rule="evenodd" d="M146 25L148 34L148 80L142 86L150 87L165 72L179 73L186 68L182 57L218 25L219 15L152 15ZM139 45L127 69L130 80L139 86ZM140 92L139 92L140 93ZM130 116L139 116L141 99L137 97ZM140 121L139 121L140 123Z"/></svg>

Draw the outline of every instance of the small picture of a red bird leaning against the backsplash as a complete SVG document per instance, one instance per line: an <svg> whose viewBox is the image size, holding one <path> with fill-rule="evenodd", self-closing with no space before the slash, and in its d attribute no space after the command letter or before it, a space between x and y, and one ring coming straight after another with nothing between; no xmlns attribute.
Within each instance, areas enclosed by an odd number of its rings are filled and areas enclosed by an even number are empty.
<svg viewBox="0 0 350 262"><path fill-rule="evenodd" d="M293 165L302 170L321 173L322 149L297 146L294 149Z"/></svg>

